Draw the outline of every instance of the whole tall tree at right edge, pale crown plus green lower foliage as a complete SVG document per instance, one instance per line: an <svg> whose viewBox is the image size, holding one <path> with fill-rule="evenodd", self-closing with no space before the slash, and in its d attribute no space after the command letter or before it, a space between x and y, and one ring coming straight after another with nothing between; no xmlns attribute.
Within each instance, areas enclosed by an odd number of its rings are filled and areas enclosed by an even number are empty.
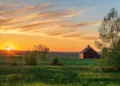
<svg viewBox="0 0 120 86"><path fill-rule="evenodd" d="M103 19L95 44L102 50L104 66L120 68L120 16L115 8Z"/></svg>

